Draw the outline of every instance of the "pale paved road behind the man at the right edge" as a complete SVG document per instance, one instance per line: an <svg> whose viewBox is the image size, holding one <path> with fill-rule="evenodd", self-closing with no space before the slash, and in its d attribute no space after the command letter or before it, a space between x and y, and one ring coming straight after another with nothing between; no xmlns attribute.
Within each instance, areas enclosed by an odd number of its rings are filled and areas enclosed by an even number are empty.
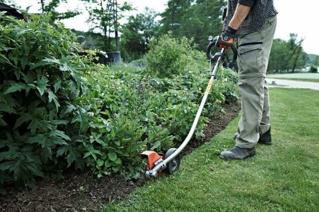
<svg viewBox="0 0 319 212"><path fill-rule="evenodd" d="M319 91L319 83L266 78L269 87L305 88ZM273 84L275 82L275 84Z"/></svg>

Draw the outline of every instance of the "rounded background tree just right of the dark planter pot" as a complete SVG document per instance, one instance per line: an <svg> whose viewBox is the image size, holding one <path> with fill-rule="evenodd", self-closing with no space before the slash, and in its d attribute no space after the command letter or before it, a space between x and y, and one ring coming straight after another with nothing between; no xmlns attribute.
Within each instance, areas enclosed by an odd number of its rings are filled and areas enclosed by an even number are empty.
<svg viewBox="0 0 319 212"><path fill-rule="evenodd" d="M158 35L160 23L154 9L145 8L143 13L132 15L122 27L122 45L132 60L142 58L148 50L149 40Z"/></svg>

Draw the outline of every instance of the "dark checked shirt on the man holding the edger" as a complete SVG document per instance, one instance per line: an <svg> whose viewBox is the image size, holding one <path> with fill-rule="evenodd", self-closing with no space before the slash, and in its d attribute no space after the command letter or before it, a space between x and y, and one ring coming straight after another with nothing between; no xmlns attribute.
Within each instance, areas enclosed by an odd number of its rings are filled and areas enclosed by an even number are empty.
<svg viewBox="0 0 319 212"><path fill-rule="evenodd" d="M234 15L237 3L252 6L247 17L240 25L235 34L235 38L242 37L246 34L255 32L265 23L267 17L278 14L274 7L274 0L228 0L227 16L224 20L224 27L226 27Z"/></svg>

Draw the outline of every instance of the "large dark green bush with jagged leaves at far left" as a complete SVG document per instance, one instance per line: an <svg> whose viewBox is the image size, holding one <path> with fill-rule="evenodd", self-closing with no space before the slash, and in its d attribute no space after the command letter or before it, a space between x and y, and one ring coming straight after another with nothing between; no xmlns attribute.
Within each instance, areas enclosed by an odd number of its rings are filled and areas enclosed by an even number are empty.
<svg viewBox="0 0 319 212"><path fill-rule="evenodd" d="M0 183L25 190L35 176L84 168L89 107L79 103L89 87L75 34L48 24L50 14L0 20Z"/></svg>

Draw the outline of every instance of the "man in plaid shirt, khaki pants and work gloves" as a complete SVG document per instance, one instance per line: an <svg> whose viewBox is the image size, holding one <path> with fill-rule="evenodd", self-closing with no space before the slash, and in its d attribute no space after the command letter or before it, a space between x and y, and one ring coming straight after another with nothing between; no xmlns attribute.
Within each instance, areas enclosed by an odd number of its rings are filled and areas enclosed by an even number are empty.
<svg viewBox="0 0 319 212"><path fill-rule="evenodd" d="M269 91L265 80L276 30L277 10L273 0L228 0L224 30L216 40L219 48L238 44L238 87L242 116L234 148L223 151L224 160L256 155L257 143L271 145Z"/></svg>

